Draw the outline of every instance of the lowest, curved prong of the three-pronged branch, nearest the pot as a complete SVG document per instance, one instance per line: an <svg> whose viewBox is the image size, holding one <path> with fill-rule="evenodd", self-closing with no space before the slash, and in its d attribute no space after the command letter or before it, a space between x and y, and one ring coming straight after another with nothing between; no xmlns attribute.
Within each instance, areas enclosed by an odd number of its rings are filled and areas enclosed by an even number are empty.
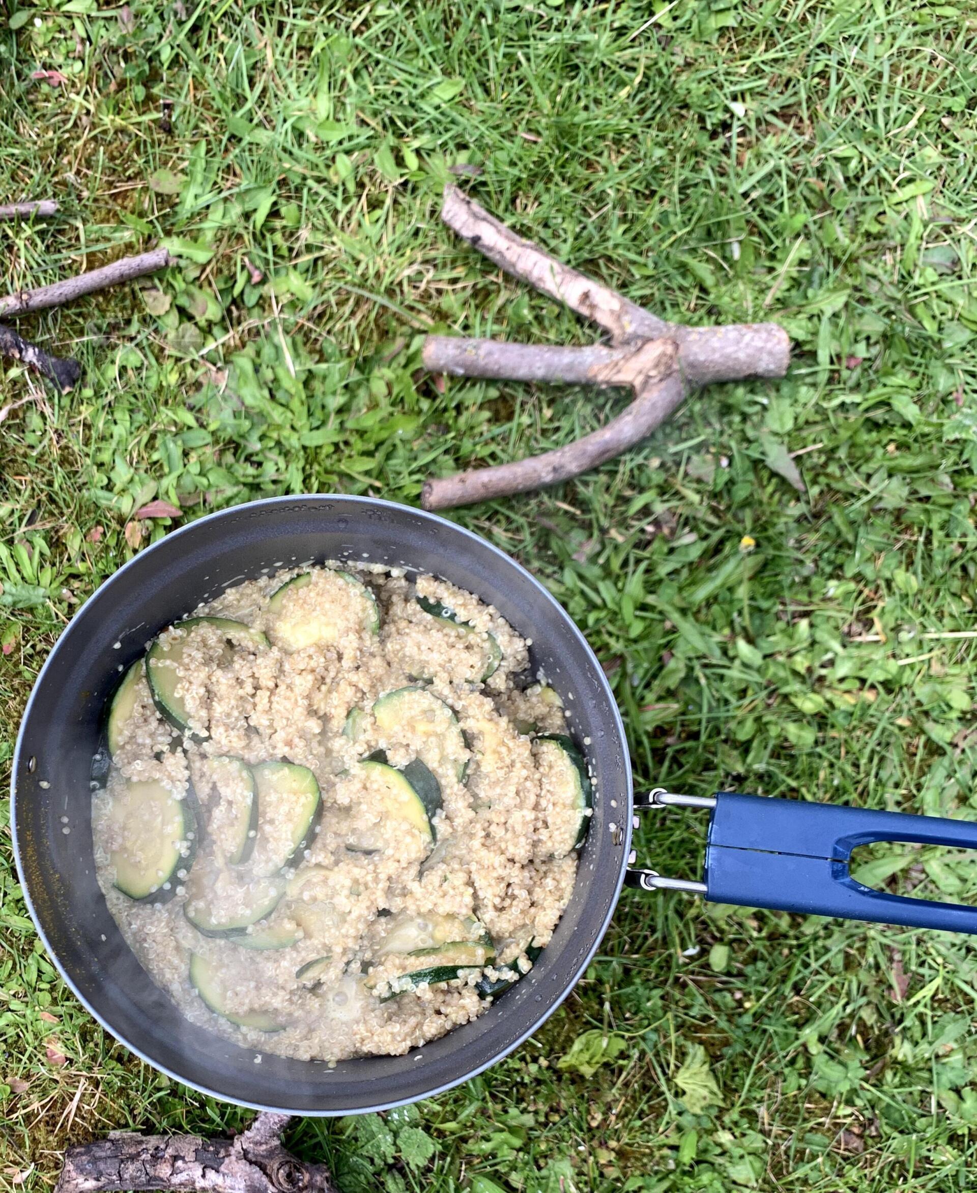
<svg viewBox="0 0 977 1193"><path fill-rule="evenodd" d="M671 372L647 385L626 410L600 431L565 447L512 464L425 481L420 505L425 509L449 509L451 506L508 497L512 493L570 481L647 438L682 403L684 396L682 378Z"/></svg>

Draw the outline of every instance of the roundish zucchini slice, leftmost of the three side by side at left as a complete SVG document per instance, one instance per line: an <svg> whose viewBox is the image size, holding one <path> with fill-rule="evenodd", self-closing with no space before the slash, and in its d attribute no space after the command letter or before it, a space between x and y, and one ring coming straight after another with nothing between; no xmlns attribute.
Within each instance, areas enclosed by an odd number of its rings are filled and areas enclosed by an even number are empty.
<svg viewBox="0 0 977 1193"><path fill-rule="evenodd" d="M173 878L178 870L192 865L196 843L189 796L178 799L155 780L125 783L112 798L109 823L122 842L109 854L116 890L131 900L155 903L172 898Z"/></svg>

